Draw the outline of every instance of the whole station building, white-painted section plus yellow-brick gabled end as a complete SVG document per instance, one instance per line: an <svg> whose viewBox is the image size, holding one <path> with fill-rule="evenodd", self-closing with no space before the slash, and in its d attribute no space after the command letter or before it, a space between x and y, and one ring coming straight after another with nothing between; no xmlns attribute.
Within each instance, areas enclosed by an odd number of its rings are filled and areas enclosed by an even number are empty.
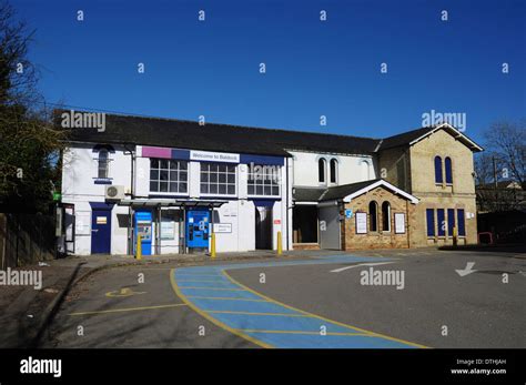
<svg viewBox="0 0 526 385"><path fill-rule="evenodd" d="M62 111L57 111L60 125ZM68 112L69 113L69 112ZM83 112L82 112L83 113ZM105 115L68 131L67 253L476 242L473 152L448 124L386 139Z"/></svg>

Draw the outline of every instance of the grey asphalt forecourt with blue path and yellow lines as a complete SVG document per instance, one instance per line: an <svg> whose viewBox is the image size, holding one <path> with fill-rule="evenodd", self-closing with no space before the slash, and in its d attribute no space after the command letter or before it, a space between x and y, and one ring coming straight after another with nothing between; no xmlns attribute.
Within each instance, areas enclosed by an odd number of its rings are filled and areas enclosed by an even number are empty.
<svg viewBox="0 0 526 385"><path fill-rule="evenodd" d="M392 256L102 271L73 288L44 346L526 347L524 257ZM476 272L455 272L468 262ZM403 272L403 288L363 285L370 267Z"/></svg>

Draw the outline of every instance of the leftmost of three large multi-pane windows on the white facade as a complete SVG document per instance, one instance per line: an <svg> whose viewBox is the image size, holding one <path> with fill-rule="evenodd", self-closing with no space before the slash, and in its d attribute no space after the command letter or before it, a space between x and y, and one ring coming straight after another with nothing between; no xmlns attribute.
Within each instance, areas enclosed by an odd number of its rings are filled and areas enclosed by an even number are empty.
<svg viewBox="0 0 526 385"><path fill-rule="evenodd" d="M150 191L188 193L188 162L168 159L150 160Z"/></svg>

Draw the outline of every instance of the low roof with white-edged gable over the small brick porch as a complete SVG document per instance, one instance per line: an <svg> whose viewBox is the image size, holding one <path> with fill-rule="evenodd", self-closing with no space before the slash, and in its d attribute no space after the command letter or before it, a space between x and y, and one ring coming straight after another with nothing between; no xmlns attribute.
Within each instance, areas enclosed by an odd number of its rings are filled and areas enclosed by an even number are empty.
<svg viewBox="0 0 526 385"><path fill-rule="evenodd" d="M417 203L416 196L406 193L405 191L394 186L393 184L384 181L383 179L374 179L371 181L363 181L350 184L342 184L332 188L317 189L317 188L294 188L293 197L295 201L303 202L323 202L323 201L335 201L344 200L351 202L352 199L360 196L367 191L375 188L383 186L392 192L409 200L412 203Z"/></svg>

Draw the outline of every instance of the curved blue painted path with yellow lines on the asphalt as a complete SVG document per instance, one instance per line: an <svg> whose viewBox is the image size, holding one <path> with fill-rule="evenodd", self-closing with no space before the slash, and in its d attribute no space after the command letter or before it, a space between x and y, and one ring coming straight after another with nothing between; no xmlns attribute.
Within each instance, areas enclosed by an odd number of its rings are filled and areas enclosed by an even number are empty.
<svg viewBox="0 0 526 385"><path fill-rule="evenodd" d="M181 267L172 271L175 292L216 325L263 347L414 348L407 341L345 325L282 304L236 282L226 270L391 261L351 255L305 261Z"/></svg>

